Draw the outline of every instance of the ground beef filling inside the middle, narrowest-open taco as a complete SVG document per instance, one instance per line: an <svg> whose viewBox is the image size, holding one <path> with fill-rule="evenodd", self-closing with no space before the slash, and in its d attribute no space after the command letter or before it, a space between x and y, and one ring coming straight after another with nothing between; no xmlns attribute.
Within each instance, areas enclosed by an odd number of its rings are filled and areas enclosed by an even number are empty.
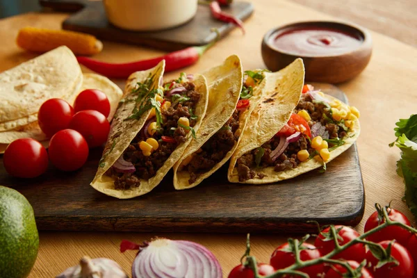
<svg viewBox="0 0 417 278"><path fill-rule="evenodd" d="M224 126L204 143L199 153L195 153L191 161L183 167L183 171L190 173L189 184L195 183L200 174L213 169L222 161L238 141L238 136L235 134L238 128L239 111L235 110Z"/></svg>

